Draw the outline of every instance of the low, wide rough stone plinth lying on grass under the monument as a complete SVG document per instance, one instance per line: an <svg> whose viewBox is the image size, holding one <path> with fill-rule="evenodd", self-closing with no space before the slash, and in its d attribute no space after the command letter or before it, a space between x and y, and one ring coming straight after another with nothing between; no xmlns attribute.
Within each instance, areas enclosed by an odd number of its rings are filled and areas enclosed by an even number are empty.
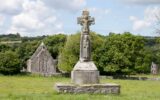
<svg viewBox="0 0 160 100"><path fill-rule="evenodd" d="M55 89L59 93L92 93L92 94L120 94L120 85L118 84L61 84L57 83Z"/></svg>

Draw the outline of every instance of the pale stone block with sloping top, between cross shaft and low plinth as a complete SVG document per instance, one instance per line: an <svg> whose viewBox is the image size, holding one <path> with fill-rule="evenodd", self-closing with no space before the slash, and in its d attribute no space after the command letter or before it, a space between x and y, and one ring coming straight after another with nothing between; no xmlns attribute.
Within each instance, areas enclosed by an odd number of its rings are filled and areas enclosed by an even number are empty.
<svg viewBox="0 0 160 100"><path fill-rule="evenodd" d="M71 72L71 78L74 84L97 84L99 83L99 71L92 61L78 61Z"/></svg>

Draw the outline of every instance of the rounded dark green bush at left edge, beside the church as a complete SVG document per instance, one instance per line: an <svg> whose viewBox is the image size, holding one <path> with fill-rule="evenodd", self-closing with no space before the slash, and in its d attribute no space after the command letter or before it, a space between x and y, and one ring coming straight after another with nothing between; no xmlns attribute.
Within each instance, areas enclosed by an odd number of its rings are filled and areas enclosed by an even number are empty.
<svg viewBox="0 0 160 100"><path fill-rule="evenodd" d="M0 52L0 73L16 74L20 69L20 60L15 52Z"/></svg>

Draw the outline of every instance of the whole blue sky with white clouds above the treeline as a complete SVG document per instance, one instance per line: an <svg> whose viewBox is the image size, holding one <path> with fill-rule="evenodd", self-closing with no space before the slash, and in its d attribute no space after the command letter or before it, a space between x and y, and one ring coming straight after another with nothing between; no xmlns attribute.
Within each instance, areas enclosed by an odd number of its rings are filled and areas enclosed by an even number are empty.
<svg viewBox="0 0 160 100"><path fill-rule="evenodd" d="M95 18L90 30L96 33L159 36L160 0L0 0L0 34L74 34L84 9Z"/></svg>

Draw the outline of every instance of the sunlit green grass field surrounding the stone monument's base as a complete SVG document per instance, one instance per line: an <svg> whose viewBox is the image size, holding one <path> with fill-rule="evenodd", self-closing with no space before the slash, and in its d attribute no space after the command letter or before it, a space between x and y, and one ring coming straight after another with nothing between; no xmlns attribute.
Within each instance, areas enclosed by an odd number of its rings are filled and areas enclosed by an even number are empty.
<svg viewBox="0 0 160 100"><path fill-rule="evenodd" d="M160 100L160 81L101 80L120 84L120 95L59 94L53 89L56 82L70 78L0 76L0 100Z"/></svg>

